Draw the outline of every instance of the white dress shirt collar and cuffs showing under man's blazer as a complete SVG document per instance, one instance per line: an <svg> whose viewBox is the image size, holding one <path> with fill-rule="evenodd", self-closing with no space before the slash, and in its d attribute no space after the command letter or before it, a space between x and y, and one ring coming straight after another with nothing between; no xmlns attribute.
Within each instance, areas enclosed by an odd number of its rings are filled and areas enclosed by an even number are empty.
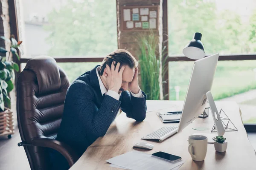
<svg viewBox="0 0 256 170"><path fill-rule="evenodd" d="M100 88L100 91L101 91L102 95L103 94L109 95L109 96L113 97L114 99L119 100L121 94L119 95L115 91L107 90L105 88L105 85L103 84L101 78L99 77L99 67L97 67L96 74L97 74L97 77L98 77L98 80L99 80L99 88ZM133 95L134 97L139 97L139 98L143 98L144 97L144 95L142 94L141 90L139 91L138 94L134 94L134 93L131 92L131 95Z"/></svg>

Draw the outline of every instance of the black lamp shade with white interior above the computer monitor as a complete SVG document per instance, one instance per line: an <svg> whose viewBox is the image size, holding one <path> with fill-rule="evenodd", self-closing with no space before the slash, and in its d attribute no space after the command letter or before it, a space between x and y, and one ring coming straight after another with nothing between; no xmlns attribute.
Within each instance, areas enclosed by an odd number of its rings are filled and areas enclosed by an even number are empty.
<svg viewBox="0 0 256 170"><path fill-rule="evenodd" d="M201 42L202 34L196 32L191 40L183 49L183 54L190 59L201 59L205 57L204 45Z"/></svg>

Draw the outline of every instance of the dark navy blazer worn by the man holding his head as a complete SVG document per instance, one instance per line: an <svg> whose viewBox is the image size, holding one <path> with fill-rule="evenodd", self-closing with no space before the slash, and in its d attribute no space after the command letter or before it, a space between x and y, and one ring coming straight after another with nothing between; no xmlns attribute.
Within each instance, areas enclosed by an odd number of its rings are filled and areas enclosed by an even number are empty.
<svg viewBox="0 0 256 170"><path fill-rule="evenodd" d="M128 118L143 121L146 116L146 94L137 98L123 91L119 100L100 91L96 68L78 77L67 90L57 140L66 142L81 156L99 136L104 136L119 108Z"/></svg>

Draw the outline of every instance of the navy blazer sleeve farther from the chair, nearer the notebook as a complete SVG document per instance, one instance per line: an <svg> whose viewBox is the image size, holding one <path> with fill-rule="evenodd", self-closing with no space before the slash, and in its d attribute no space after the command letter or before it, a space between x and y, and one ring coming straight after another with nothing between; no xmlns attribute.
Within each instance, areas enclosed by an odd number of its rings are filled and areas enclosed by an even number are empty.
<svg viewBox="0 0 256 170"><path fill-rule="evenodd" d="M147 105L146 98L147 95L141 91L144 95L143 98L134 97L128 91L122 92L121 99L121 110L126 113L126 116L133 118L137 121L143 121L146 117Z"/></svg>

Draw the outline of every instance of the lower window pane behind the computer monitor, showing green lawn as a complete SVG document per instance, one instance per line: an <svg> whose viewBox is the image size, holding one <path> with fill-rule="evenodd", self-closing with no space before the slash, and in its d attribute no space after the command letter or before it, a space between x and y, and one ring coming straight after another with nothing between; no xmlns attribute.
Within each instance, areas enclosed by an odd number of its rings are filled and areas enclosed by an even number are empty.
<svg viewBox="0 0 256 170"><path fill-rule="evenodd" d="M169 62L169 98L184 100L193 62ZM175 71L174 71L175 70ZM218 61L212 96L239 104L244 123L256 124L256 60Z"/></svg>

